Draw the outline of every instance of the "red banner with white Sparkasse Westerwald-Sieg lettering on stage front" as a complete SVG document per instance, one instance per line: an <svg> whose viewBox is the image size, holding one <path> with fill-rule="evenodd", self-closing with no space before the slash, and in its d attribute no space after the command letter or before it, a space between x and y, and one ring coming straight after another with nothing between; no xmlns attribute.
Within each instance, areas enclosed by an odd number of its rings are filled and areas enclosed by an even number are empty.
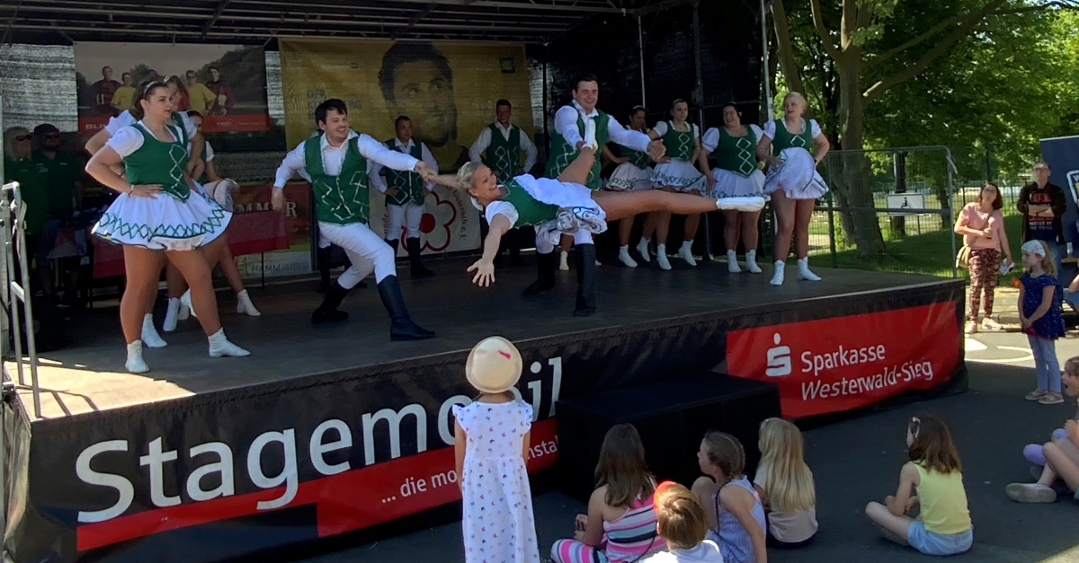
<svg viewBox="0 0 1079 563"><path fill-rule="evenodd" d="M727 371L779 385L792 418L946 383L958 361L954 301L727 333Z"/></svg>

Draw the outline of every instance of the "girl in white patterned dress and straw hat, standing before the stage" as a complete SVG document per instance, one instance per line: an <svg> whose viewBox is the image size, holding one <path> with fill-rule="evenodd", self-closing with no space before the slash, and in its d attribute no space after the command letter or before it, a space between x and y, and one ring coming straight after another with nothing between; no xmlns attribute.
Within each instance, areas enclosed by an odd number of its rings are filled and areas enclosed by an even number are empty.
<svg viewBox="0 0 1079 563"><path fill-rule="evenodd" d="M481 341L465 362L479 392L472 404L453 406L466 563L540 563L524 467L532 407L511 390L520 376L521 354L501 337Z"/></svg>

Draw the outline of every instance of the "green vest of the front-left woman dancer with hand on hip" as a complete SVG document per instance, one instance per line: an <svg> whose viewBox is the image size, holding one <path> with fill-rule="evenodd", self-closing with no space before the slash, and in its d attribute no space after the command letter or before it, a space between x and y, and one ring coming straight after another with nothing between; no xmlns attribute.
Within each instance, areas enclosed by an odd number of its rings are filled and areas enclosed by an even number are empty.
<svg viewBox="0 0 1079 563"><path fill-rule="evenodd" d="M161 191L187 202L191 195L183 171L188 166L188 135L183 127L168 127L176 136L172 142L158 140L141 123L134 125L142 134L142 146L124 156L124 168L132 186L161 184Z"/></svg>

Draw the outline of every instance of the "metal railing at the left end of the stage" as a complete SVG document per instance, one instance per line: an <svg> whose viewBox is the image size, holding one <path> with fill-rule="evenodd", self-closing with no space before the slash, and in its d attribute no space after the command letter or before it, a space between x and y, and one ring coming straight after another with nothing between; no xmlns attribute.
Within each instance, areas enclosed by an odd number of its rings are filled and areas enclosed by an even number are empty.
<svg viewBox="0 0 1079 563"><path fill-rule="evenodd" d="M23 331L26 331L26 352L30 371L30 389L33 394L33 416L41 417L41 387L38 384L38 346L35 341L33 303L30 290L30 267L27 264L26 206L18 182L5 183L0 190L0 242L3 244L4 306L10 314L11 331L15 347L15 366L18 385L26 387L23 359ZM19 318L18 303L23 304ZM4 334L6 338L6 334Z"/></svg>

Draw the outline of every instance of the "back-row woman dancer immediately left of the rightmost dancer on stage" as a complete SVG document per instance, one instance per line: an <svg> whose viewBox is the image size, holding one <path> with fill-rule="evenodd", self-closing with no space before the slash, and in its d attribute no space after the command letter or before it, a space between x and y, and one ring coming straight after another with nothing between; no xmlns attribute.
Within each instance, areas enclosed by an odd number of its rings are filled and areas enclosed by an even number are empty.
<svg viewBox="0 0 1079 563"><path fill-rule="evenodd" d="M764 195L764 173L757 166L756 143L763 136L761 127L742 125L741 112L735 104L723 106L723 126L712 127L701 138L701 168L708 168L709 154L715 156L708 193L716 197ZM738 241L746 247L746 270L761 273L756 265L757 220L760 211L723 211L723 242L727 247L727 271L737 274Z"/></svg>

